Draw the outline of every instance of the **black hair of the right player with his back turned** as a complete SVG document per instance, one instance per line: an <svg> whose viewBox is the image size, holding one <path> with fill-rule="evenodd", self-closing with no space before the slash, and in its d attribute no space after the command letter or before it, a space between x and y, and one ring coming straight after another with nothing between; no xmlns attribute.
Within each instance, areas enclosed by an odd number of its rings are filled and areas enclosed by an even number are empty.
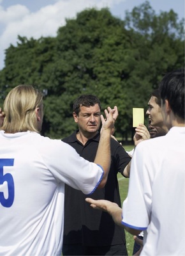
<svg viewBox="0 0 185 256"><path fill-rule="evenodd" d="M166 74L159 83L163 104L167 99L174 115L184 120L184 68Z"/></svg>

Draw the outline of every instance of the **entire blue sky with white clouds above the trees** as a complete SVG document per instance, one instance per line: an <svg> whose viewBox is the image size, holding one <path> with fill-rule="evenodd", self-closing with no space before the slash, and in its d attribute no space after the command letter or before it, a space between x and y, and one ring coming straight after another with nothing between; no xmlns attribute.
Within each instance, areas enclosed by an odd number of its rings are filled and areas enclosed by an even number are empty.
<svg viewBox="0 0 185 256"><path fill-rule="evenodd" d="M17 45L17 36L56 36L65 19L75 19L86 8L108 7L112 15L124 19L125 11L131 12L145 0L0 0L0 70L4 67L4 51ZM184 0L149 0L159 14L171 9L179 19L184 18Z"/></svg>

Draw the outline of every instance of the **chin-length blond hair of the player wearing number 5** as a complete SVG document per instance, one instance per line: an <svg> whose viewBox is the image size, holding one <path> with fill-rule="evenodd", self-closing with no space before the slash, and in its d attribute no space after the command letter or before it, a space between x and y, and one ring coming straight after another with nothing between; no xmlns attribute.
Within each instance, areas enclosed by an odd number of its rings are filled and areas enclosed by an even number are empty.
<svg viewBox="0 0 185 256"><path fill-rule="evenodd" d="M4 123L1 130L8 133L38 132L35 109L43 104L43 94L31 85L20 84L4 100Z"/></svg>

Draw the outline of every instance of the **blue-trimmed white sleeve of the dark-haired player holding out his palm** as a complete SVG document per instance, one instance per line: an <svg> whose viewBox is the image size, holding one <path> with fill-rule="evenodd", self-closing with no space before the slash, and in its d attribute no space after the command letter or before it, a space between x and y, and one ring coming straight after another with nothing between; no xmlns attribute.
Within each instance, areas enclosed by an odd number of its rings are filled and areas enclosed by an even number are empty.
<svg viewBox="0 0 185 256"><path fill-rule="evenodd" d="M152 207L152 172L149 173L147 147L143 146L137 146L131 160L128 196L122 204L122 223L138 230L149 225Z"/></svg>

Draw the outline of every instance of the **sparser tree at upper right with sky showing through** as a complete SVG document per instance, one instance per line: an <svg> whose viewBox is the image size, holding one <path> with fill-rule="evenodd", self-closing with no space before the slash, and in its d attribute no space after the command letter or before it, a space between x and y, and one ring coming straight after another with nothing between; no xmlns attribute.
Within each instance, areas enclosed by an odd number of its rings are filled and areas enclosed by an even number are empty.
<svg viewBox="0 0 185 256"><path fill-rule="evenodd" d="M126 12L125 24L129 30L143 35L144 41L137 41L138 48L142 60L149 63L146 72L151 73L153 88L158 86L163 74L184 66L184 19L178 21L173 10L156 15L146 1L131 13Z"/></svg>

